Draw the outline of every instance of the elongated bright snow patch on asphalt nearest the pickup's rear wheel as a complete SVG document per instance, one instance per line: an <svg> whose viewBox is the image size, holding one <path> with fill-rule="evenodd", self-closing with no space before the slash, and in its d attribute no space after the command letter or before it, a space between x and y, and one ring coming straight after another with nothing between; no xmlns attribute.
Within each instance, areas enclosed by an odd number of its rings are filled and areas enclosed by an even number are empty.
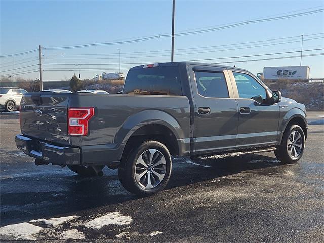
<svg viewBox="0 0 324 243"><path fill-rule="evenodd" d="M101 229L103 226L116 224L116 225L125 225L132 222L132 217L124 216L120 212L112 212L93 220L88 221L85 226L87 228Z"/></svg>

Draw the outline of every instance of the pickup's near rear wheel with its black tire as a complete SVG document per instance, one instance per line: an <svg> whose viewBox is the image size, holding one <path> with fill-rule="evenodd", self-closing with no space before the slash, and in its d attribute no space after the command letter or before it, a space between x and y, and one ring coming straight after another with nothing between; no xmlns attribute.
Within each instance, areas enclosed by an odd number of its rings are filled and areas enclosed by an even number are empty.
<svg viewBox="0 0 324 243"><path fill-rule="evenodd" d="M145 166L143 167L143 176L140 176L142 172L138 172L138 159L139 157L142 156L143 161L145 162L146 159L150 159L147 156L147 154L150 154L150 151L155 151L153 153L153 156L149 155L149 157L152 157L151 163L147 165L146 169ZM146 155L146 156L145 156ZM161 157L162 155L162 157ZM146 157L146 158L145 158ZM157 161L155 163L155 161ZM162 164L160 161L165 161L165 164ZM150 163L148 161L148 163ZM159 164L156 165L154 169L154 163ZM159 166L163 165L163 169L158 168ZM161 167L162 168L162 167ZM165 145L163 145L160 142L151 140L151 141L142 141L138 142L137 145L135 145L135 149L133 149L129 155L125 158L125 161L121 161L120 166L118 167L118 177L120 180L121 185L124 186L126 190L129 192L140 195L140 196L149 196L153 195L161 190L163 190L166 185L169 182L170 176L171 176L171 168L172 168L172 160L171 160L171 155L169 150ZM159 170L159 171L158 171ZM161 172L158 173L161 177L163 174L163 179L159 179L156 175L156 172ZM141 184L140 179L137 178L142 178L142 181L147 180L147 185ZM149 185L148 183L148 177L149 183L151 186L154 186L153 184L155 183L156 185L152 188L147 188ZM139 182L138 182L139 180Z"/></svg>

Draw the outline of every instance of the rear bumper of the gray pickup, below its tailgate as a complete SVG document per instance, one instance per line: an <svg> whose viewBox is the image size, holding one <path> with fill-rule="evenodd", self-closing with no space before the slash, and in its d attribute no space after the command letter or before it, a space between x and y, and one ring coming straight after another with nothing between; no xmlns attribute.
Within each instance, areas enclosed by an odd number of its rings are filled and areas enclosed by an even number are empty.
<svg viewBox="0 0 324 243"><path fill-rule="evenodd" d="M60 147L24 135L16 135L16 146L25 154L37 159L38 164L80 165L80 148Z"/></svg>

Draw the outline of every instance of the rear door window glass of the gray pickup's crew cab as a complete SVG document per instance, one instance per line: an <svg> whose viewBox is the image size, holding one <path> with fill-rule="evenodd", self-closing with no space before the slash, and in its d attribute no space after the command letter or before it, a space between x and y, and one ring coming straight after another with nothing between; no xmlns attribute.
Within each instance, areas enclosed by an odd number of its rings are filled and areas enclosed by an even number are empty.
<svg viewBox="0 0 324 243"><path fill-rule="evenodd" d="M222 72L194 72L198 93L205 97L229 98L225 76Z"/></svg>

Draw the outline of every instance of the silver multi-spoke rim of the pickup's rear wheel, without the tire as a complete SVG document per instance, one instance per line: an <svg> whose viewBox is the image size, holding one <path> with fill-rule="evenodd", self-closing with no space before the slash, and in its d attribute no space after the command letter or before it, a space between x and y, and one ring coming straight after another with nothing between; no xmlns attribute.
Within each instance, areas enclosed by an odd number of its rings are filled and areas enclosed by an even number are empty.
<svg viewBox="0 0 324 243"><path fill-rule="evenodd" d="M164 155L156 149L148 149L136 160L135 180L141 187L152 189L164 179L166 168Z"/></svg>

